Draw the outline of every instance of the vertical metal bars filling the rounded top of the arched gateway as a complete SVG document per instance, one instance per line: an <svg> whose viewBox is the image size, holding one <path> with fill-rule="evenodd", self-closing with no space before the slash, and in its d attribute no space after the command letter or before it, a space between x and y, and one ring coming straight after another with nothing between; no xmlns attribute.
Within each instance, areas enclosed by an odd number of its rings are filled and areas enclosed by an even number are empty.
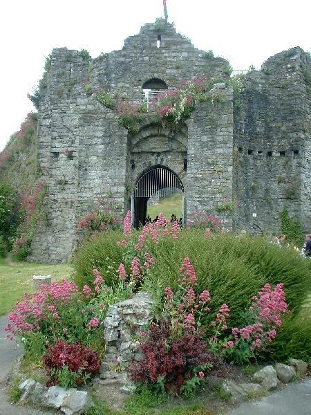
<svg viewBox="0 0 311 415"><path fill-rule="evenodd" d="M184 192L184 187L176 174L163 167L156 167L139 179L135 185L133 196L151 197L156 192L159 196L165 196L167 188L171 189L171 194Z"/></svg>

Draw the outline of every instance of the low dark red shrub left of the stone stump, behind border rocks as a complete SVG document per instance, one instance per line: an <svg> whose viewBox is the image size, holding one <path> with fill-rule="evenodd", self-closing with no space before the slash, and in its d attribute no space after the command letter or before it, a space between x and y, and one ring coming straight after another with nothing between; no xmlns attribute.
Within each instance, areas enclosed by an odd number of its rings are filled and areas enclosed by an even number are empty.
<svg viewBox="0 0 311 415"><path fill-rule="evenodd" d="M100 356L82 344L68 344L57 340L43 357L49 380L47 386L77 387L84 384L100 369Z"/></svg>

